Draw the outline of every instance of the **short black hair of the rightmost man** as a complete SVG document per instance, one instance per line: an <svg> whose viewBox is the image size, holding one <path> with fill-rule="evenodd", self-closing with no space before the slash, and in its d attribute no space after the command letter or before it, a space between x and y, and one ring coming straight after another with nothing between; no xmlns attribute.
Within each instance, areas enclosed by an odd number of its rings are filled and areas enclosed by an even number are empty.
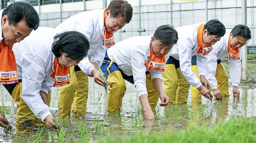
<svg viewBox="0 0 256 143"><path fill-rule="evenodd" d="M232 37L236 36L242 36L243 38L246 38L249 40L251 38L251 33L250 33L250 28L246 25L239 24L235 26L232 30L231 33L233 33Z"/></svg>

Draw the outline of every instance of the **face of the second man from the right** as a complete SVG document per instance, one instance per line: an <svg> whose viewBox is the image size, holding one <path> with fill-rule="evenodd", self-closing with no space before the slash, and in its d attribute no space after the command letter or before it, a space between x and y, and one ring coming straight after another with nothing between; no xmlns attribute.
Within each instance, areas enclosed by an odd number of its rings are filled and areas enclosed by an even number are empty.
<svg viewBox="0 0 256 143"><path fill-rule="evenodd" d="M209 47L214 45L216 42L220 41L220 39L221 37L218 37L217 35L209 35L207 29L204 29L203 42L205 46Z"/></svg>

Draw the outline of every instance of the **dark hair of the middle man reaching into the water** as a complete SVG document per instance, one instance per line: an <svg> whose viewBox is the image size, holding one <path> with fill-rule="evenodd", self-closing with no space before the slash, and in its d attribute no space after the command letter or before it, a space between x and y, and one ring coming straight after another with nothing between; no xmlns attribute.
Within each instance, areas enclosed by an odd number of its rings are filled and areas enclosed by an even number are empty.
<svg viewBox="0 0 256 143"><path fill-rule="evenodd" d="M162 25L155 31L154 38L159 39L164 46L170 46L177 43L178 33L173 26Z"/></svg>

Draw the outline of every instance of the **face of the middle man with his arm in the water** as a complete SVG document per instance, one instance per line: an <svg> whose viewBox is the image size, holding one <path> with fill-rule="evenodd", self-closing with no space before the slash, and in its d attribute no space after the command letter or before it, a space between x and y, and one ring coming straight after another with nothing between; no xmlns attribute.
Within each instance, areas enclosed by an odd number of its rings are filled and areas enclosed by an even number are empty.
<svg viewBox="0 0 256 143"><path fill-rule="evenodd" d="M172 44L171 46L164 46L159 39L155 39L154 37L152 37L151 39L151 47L157 57L162 57L163 55L166 55L174 45Z"/></svg>

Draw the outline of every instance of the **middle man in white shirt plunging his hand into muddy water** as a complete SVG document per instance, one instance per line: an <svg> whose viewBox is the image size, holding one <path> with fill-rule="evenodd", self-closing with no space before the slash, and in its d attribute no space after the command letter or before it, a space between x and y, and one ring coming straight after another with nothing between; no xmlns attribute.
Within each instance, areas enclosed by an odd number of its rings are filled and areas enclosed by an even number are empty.
<svg viewBox="0 0 256 143"><path fill-rule="evenodd" d="M120 112L126 85L124 79L134 84L142 104L145 119L154 120L152 110L169 102L163 92L162 73L168 53L178 40L177 31L170 25L157 28L153 36L137 36L116 43L106 51L101 66L109 84L107 110Z"/></svg>

